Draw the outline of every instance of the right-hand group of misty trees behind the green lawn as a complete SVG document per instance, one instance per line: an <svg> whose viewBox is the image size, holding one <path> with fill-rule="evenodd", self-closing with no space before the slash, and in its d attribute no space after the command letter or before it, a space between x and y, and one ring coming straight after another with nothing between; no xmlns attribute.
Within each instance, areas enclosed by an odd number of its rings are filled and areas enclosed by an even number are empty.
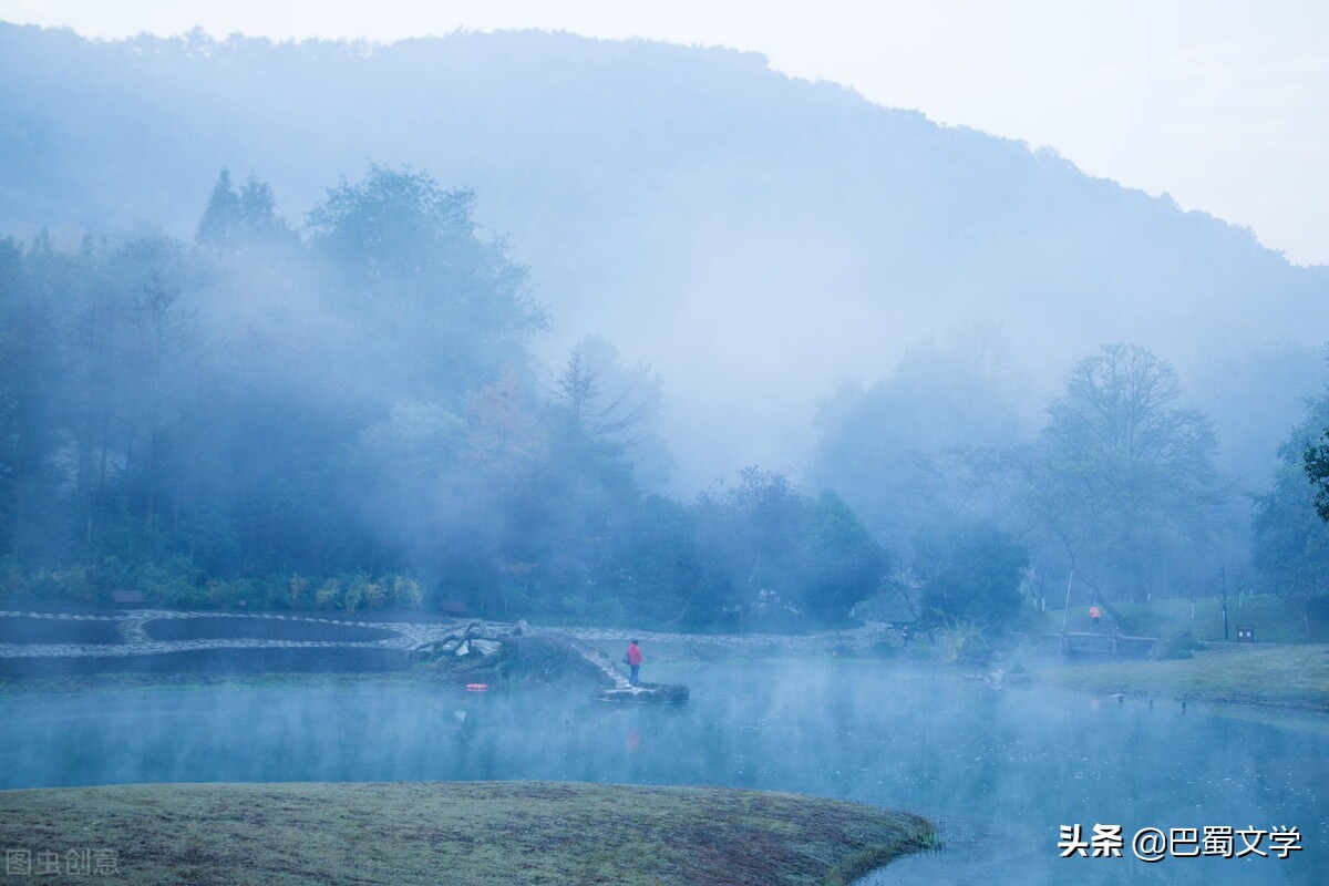
<svg viewBox="0 0 1329 886"><path fill-rule="evenodd" d="M1083 357L1023 440L1006 365L929 347L824 405L813 477L901 551L896 586L921 608L1009 624L1067 599L1212 596L1229 576L1248 592L1324 592L1329 446L1312 441L1329 389L1290 429L1272 486L1251 490L1216 469L1212 421L1147 348Z"/></svg>

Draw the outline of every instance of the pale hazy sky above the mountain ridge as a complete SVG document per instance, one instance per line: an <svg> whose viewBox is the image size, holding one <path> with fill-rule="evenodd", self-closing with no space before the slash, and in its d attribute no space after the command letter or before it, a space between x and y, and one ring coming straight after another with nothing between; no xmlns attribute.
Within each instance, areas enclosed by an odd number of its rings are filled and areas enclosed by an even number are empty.
<svg viewBox="0 0 1329 886"><path fill-rule="evenodd" d="M541 28L756 50L882 105L1050 145L1329 263L1325 0L0 0L0 19L98 37Z"/></svg>

